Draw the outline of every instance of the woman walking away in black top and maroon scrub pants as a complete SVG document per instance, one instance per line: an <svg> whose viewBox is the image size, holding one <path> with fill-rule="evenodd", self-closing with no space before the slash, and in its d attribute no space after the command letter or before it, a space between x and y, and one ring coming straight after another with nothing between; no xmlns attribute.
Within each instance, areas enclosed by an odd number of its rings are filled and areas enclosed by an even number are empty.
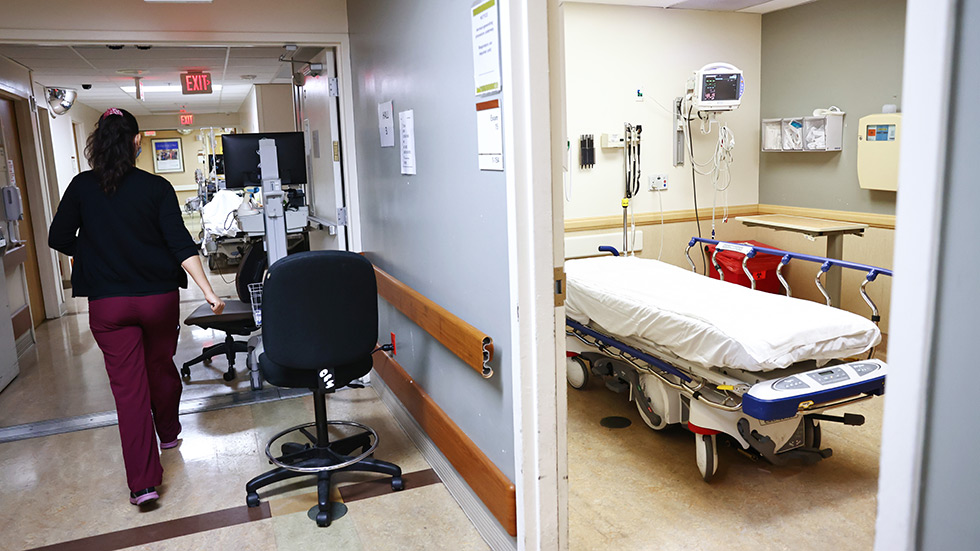
<svg viewBox="0 0 980 551"><path fill-rule="evenodd" d="M92 166L69 184L51 222L48 245L74 257L72 296L88 297L89 326L105 357L119 417L129 500L159 498L157 450L179 443L181 381L174 365L187 275L220 314L224 302L204 274L184 227L173 186L135 167L136 118L109 109L88 138ZM186 271L186 273L185 273Z"/></svg>

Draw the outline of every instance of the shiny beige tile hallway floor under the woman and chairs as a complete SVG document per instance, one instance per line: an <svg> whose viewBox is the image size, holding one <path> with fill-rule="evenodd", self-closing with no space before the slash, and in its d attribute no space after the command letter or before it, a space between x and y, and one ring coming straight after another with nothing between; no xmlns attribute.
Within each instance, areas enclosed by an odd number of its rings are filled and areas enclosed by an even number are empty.
<svg viewBox="0 0 980 551"><path fill-rule="evenodd" d="M231 279L230 275L224 276ZM233 288L212 275L215 291ZM181 315L202 303L199 290L181 291ZM73 299L70 314L42 324L36 346L21 357L21 374L0 393L0 426L60 419L113 409L102 356L88 331L87 302ZM223 336L182 327L175 361L196 356ZM197 365L183 400L250 392L242 375L225 382L224 358ZM43 399L39 399L43 396ZM332 419L351 419L381 435L376 457L404 473L430 466L370 387L344 389L328 399ZM413 487L348 503L346 516L326 529L307 517L316 486L303 479L260 491L268 518L249 520L245 483L270 468L265 445L281 430L313 420L312 398L183 415L179 447L161 452L164 483L158 505L140 511L129 504L115 426L0 444L0 550L53 549L487 549L462 509L441 483ZM338 475L354 487L380 477ZM431 477L430 477L431 478ZM433 480L438 481L435 477ZM390 488L390 487L388 487ZM335 492L336 499L341 499ZM420 505L424 504L424 506ZM234 524L213 515L245 518ZM184 535L180 535L184 534ZM127 547L126 544L138 542Z"/></svg>

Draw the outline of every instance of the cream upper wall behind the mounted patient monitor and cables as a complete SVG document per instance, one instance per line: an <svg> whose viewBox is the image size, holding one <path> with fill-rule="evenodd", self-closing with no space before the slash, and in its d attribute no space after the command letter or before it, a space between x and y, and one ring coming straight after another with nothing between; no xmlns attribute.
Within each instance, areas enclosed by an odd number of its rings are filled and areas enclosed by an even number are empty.
<svg viewBox="0 0 980 551"><path fill-rule="evenodd" d="M745 74L745 96L736 111L718 115L737 140L732 205L757 204L759 190L759 82L761 16L694 10L566 3L565 72L568 137L571 141L571 200L565 219L621 216L623 150L600 148L600 134L640 124L642 185L633 204L637 213L694 207L691 166L674 167L671 135L673 101L682 96L694 71L712 62L729 62ZM635 100L643 90L644 101ZM707 161L717 129L702 136L693 123L695 155ZM578 140L594 134L596 164L579 168ZM667 174L669 188L647 191L649 176ZM698 177L699 206L710 206L712 186ZM659 197L658 197L659 195ZM719 204L721 199L719 198Z"/></svg>

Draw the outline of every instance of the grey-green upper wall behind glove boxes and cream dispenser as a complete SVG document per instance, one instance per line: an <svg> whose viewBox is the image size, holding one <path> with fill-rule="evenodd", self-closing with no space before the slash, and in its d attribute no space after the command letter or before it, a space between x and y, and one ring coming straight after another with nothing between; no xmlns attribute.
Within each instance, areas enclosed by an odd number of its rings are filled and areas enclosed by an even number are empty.
<svg viewBox="0 0 980 551"><path fill-rule="evenodd" d="M901 109L905 0L818 0L762 17L762 118L836 105L839 153L759 153L759 202L895 214L895 193L861 189L858 119ZM746 83L746 87L752 83Z"/></svg>

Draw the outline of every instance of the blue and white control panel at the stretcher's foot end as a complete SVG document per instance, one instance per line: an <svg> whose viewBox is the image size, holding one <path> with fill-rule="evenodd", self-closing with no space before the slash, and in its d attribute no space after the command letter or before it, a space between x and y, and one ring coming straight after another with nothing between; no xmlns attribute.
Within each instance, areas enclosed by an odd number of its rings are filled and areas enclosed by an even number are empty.
<svg viewBox="0 0 980 551"><path fill-rule="evenodd" d="M742 411L770 421L852 396L881 395L886 371L880 360L860 360L758 383L742 396Z"/></svg>

